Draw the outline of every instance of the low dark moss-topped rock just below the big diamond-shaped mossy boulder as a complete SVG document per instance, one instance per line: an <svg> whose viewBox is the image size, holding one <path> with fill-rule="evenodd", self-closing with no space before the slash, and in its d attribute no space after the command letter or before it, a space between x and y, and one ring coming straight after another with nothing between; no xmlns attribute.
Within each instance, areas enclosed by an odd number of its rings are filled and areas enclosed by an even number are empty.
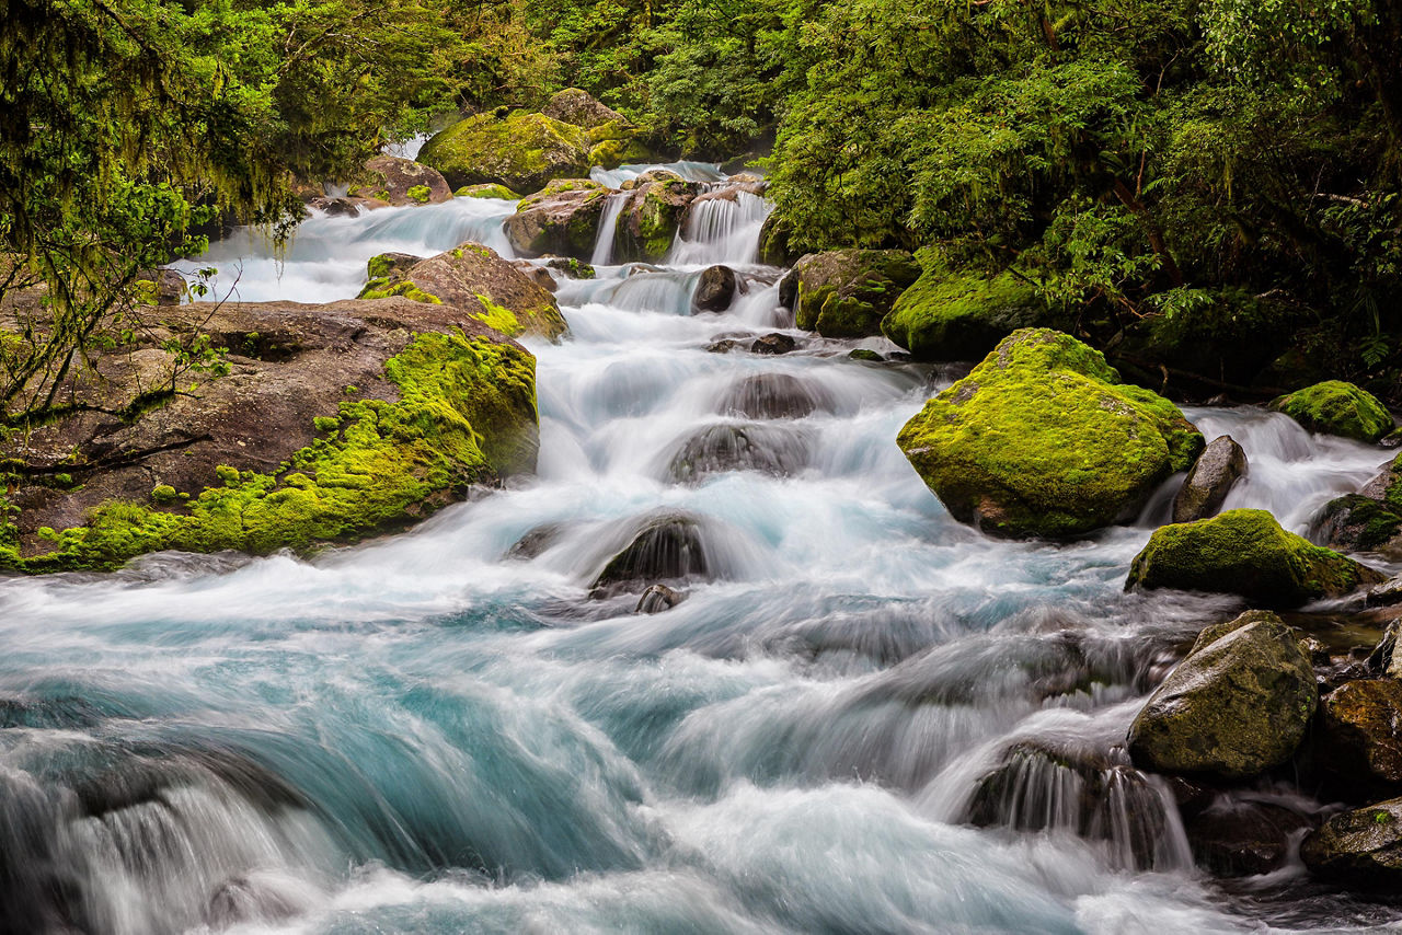
<svg viewBox="0 0 1402 935"><path fill-rule="evenodd" d="M1378 585L1380 572L1287 533L1266 510L1228 510L1155 530L1124 583L1239 594L1262 607L1298 607Z"/></svg>

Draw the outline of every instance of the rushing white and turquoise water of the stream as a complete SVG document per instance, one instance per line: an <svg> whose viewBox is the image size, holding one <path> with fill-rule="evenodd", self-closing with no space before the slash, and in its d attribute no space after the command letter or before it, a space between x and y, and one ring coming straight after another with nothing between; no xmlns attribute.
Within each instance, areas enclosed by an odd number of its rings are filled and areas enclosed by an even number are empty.
<svg viewBox="0 0 1402 935"><path fill-rule="evenodd" d="M531 343L536 478L310 562L157 555L0 582L0 929L1161 935L1389 918L1297 894L1298 869L1221 890L1192 869L1165 789L1117 750L1150 674L1232 611L1122 592L1171 485L1140 526L1073 545L952 521L894 436L955 371L851 360L852 343L796 331L785 356L705 350L789 324L778 271L744 262L761 210L715 203L736 213L679 240L686 265L561 282L572 338ZM250 236L207 262L227 287L241 258L244 299L325 301L353 296L380 251L474 237L509 254L510 210L318 217L280 262ZM746 292L693 315L695 264L719 257L739 258ZM758 418L780 404L801 415ZM1228 506L1301 531L1385 460L1253 408L1189 416L1252 461ZM767 472L679 460L735 430ZM637 594L592 599L659 512L690 514L715 580L651 615Z"/></svg>

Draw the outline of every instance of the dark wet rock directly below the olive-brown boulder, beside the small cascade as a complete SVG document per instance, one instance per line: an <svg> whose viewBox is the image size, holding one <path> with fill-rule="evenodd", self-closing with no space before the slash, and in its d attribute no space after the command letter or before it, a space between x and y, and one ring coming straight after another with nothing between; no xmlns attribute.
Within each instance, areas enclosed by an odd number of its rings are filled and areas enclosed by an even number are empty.
<svg viewBox="0 0 1402 935"><path fill-rule="evenodd" d="M1197 866L1217 876L1256 876L1284 866L1291 838L1315 821L1272 802L1218 796L1185 821Z"/></svg>

